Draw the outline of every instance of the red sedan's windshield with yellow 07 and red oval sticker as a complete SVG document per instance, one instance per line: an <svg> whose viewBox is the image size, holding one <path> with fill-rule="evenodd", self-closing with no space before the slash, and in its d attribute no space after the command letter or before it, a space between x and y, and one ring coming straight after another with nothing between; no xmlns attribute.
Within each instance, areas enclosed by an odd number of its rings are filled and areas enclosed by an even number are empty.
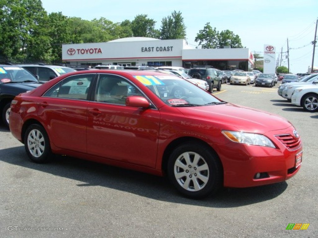
<svg viewBox="0 0 318 238"><path fill-rule="evenodd" d="M225 103L193 83L173 75L134 76L171 107L191 107Z"/></svg>

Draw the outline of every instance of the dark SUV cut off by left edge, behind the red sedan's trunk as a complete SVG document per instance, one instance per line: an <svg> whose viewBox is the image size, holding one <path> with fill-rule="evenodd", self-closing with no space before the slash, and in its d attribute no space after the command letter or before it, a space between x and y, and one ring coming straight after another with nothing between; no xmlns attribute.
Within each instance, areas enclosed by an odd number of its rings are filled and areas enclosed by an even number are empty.
<svg viewBox="0 0 318 238"><path fill-rule="evenodd" d="M41 84L35 76L22 67L0 64L0 112L4 125L9 127L12 99L20 93L31 91Z"/></svg>

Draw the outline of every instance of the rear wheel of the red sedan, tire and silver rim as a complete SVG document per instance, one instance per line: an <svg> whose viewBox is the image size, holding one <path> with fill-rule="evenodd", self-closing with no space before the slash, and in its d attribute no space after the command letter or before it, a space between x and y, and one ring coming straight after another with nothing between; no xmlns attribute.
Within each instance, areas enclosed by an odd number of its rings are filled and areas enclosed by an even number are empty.
<svg viewBox="0 0 318 238"><path fill-rule="evenodd" d="M52 159L50 140L41 125L32 124L26 129L24 148L33 162L47 163Z"/></svg>

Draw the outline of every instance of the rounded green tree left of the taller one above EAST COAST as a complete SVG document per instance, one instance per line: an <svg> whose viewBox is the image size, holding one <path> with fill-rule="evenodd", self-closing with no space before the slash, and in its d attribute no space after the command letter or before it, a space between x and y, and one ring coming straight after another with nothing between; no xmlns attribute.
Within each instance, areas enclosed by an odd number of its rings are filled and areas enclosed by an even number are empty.
<svg viewBox="0 0 318 238"><path fill-rule="evenodd" d="M156 21L148 18L147 14L137 15L131 22L131 30L135 37L160 37L160 31L155 30ZM159 33L159 34L158 34Z"/></svg>

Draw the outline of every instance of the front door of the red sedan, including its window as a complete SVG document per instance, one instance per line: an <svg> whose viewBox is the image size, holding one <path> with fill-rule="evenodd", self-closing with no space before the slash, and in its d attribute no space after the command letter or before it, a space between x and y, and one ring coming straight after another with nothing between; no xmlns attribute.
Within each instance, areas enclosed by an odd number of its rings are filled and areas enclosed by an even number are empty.
<svg viewBox="0 0 318 238"><path fill-rule="evenodd" d="M87 109L87 153L154 168L160 113L126 106L126 97L134 95L142 93L128 80L100 75Z"/></svg>

